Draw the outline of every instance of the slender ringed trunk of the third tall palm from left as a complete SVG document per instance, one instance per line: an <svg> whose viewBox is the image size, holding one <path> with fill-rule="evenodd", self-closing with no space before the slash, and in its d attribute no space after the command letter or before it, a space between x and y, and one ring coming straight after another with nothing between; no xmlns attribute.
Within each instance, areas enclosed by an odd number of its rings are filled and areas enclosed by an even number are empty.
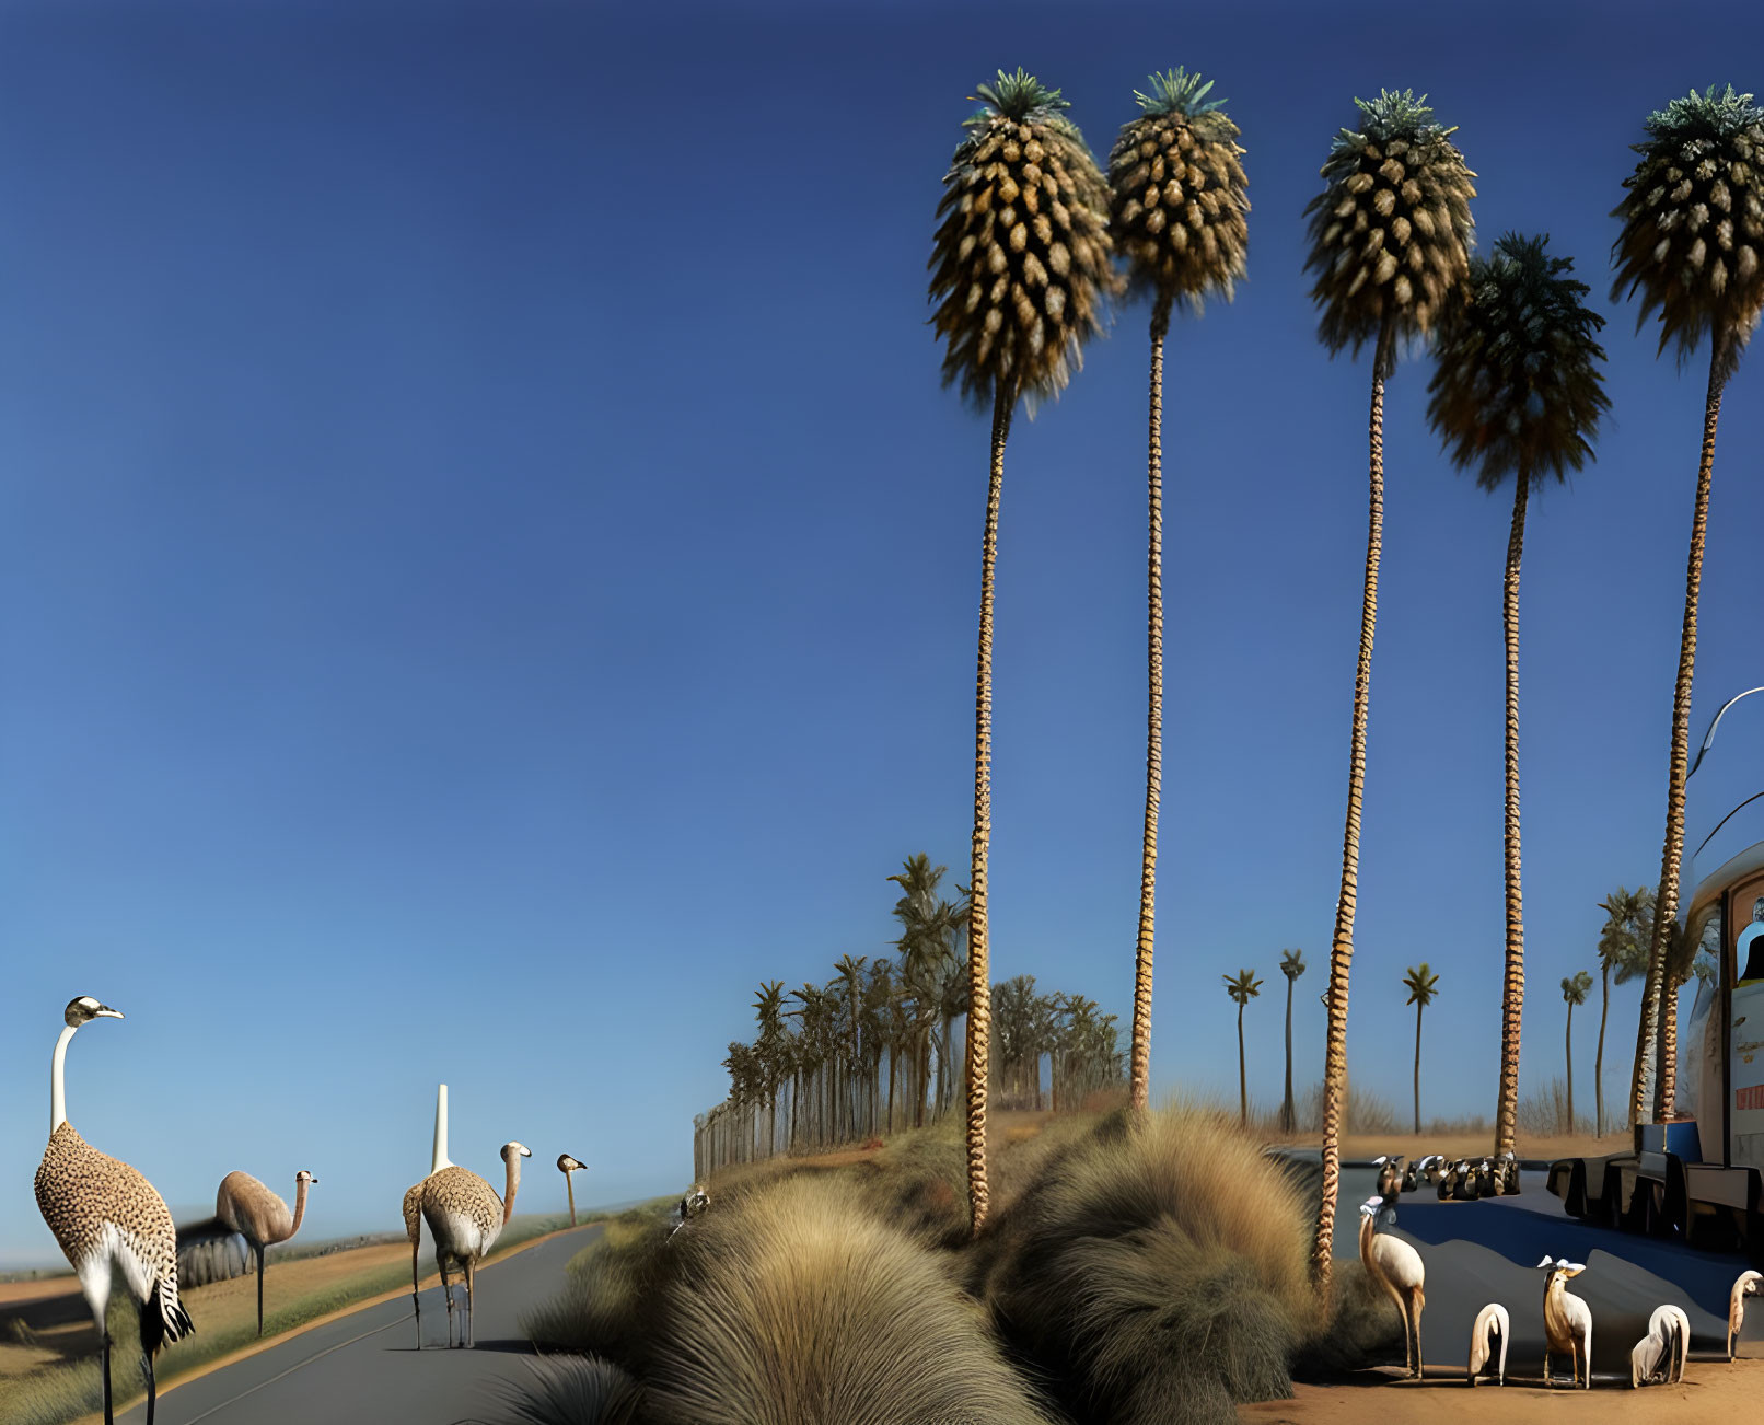
<svg viewBox="0 0 1764 1425"><path fill-rule="evenodd" d="M1372 631L1378 626L1378 559L1385 531L1385 376L1392 362L1394 328L1385 321L1372 358L1372 414L1369 422L1371 487L1365 529L1365 591L1360 601L1360 661L1353 679L1353 735L1348 753L1348 825L1341 843L1341 899L1330 942L1328 1041L1323 1055L1323 1192L1311 1249L1311 1277L1328 1302L1335 1252L1335 1194L1341 1187L1341 1118L1348 1088L1348 970L1353 965L1353 912L1360 887L1360 799L1365 790L1365 711L1372 691Z"/></svg>

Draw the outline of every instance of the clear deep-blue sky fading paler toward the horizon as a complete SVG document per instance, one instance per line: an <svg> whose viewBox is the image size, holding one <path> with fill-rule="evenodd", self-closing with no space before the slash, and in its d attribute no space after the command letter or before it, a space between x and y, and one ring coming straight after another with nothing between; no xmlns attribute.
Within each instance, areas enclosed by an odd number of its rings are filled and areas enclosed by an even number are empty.
<svg viewBox="0 0 1764 1425"><path fill-rule="evenodd" d="M0 9L0 1261L62 1005L71 1118L178 1206L310 1168L307 1231L534 1150L522 1206L677 1190L762 979L965 878L986 423L938 388L924 261L967 95L1018 63L1106 152L1152 69L1244 131L1249 280L1166 362L1166 783L1154 1083L1321 1063L1365 501L1365 362L1314 340L1304 205L1353 95L1427 92L1484 245L1551 233L1611 317L1598 464L1531 503L1526 1086L1595 903L1658 875L1706 353L1609 300L1646 113L1764 85L1764 12L580 4ZM1145 321L1011 439L995 977L1124 1018L1145 718ZM1757 663L1759 353L1727 393L1693 732ZM1510 506L1387 404L1353 1072L1491 1113ZM1755 700L1764 702L1764 698ZM1764 709L1692 783L1764 787ZM1738 831L1738 829L1736 829ZM1755 839L1746 836L1743 839ZM1619 991L1621 1078L1635 989ZM1593 1016L1577 1035L1589 1100ZM1259 1042L1258 1042L1259 1041Z"/></svg>

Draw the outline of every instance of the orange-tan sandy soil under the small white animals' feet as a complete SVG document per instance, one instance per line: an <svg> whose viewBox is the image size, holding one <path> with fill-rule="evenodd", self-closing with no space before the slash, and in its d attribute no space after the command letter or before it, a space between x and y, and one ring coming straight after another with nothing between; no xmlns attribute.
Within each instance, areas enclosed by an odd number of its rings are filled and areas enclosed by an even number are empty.
<svg viewBox="0 0 1764 1425"><path fill-rule="evenodd" d="M1293 1400L1238 1406L1238 1421L1254 1425L1365 1425L1385 1421L1468 1420L1494 1425L1531 1421L1600 1421L1600 1425L1653 1425L1653 1421L1757 1420L1764 1393L1764 1360L1690 1362L1676 1386L1630 1390L1630 1383L1593 1379L1591 1390L1544 1390L1542 1384L1464 1384L1462 1363L1439 1367L1434 1381L1404 1381L1394 1367L1362 1370L1330 1386L1293 1386Z"/></svg>

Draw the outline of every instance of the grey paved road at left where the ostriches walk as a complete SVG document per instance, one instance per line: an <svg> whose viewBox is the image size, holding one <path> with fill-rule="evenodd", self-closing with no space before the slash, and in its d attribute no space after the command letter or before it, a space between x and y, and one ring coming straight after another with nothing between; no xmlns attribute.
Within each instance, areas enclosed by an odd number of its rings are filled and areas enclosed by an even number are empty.
<svg viewBox="0 0 1764 1425"><path fill-rule="evenodd" d="M533 1347L519 1317L563 1284L563 1268L600 1233L575 1227L478 1272L476 1349L448 1351L441 1287L423 1293L423 1351L411 1296L351 1312L159 1397L155 1425L453 1425L506 1418L506 1383ZM464 1289L459 1289L464 1300ZM436 1349L430 1351L429 1347ZM118 1360L113 1369L129 1365ZM146 1406L118 1416L141 1425Z"/></svg>

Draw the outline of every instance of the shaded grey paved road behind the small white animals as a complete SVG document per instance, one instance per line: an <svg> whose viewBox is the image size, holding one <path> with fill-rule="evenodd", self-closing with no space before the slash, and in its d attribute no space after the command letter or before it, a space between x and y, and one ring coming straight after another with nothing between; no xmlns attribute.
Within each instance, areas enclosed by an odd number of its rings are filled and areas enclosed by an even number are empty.
<svg viewBox="0 0 1764 1425"><path fill-rule="evenodd" d="M1293 1155L1304 1162L1312 1155ZM1335 1256L1358 1256L1360 1203L1376 1192L1376 1169L1342 1164ZM1593 1377L1630 1377L1630 1347L1667 1302L1690 1317L1692 1356L1727 1356L1727 1293L1746 1268L1738 1254L1697 1252L1672 1242L1577 1222L1545 1190L1545 1173L1521 1173L1517 1197L1441 1203L1432 1189L1397 1201L1397 1224L1427 1268L1422 1354L1441 1374L1464 1374L1469 1328L1489 1302L1506 1307L1514 1342L1506 1374L1544 1379L1544 1272L1540 1257L1586 1265L1568 1289L1593 1310ZM1750 1303L1739 1354L1764 1354L1764 1307ZM1401 1365L1401 1360L1397 1362ZM1558 1362L1551 1360L1551 1370ZM1566 1365L1563 1363L1563 1370ZM1429 1370L1431 1374L1431 1370Z"/></svg>

